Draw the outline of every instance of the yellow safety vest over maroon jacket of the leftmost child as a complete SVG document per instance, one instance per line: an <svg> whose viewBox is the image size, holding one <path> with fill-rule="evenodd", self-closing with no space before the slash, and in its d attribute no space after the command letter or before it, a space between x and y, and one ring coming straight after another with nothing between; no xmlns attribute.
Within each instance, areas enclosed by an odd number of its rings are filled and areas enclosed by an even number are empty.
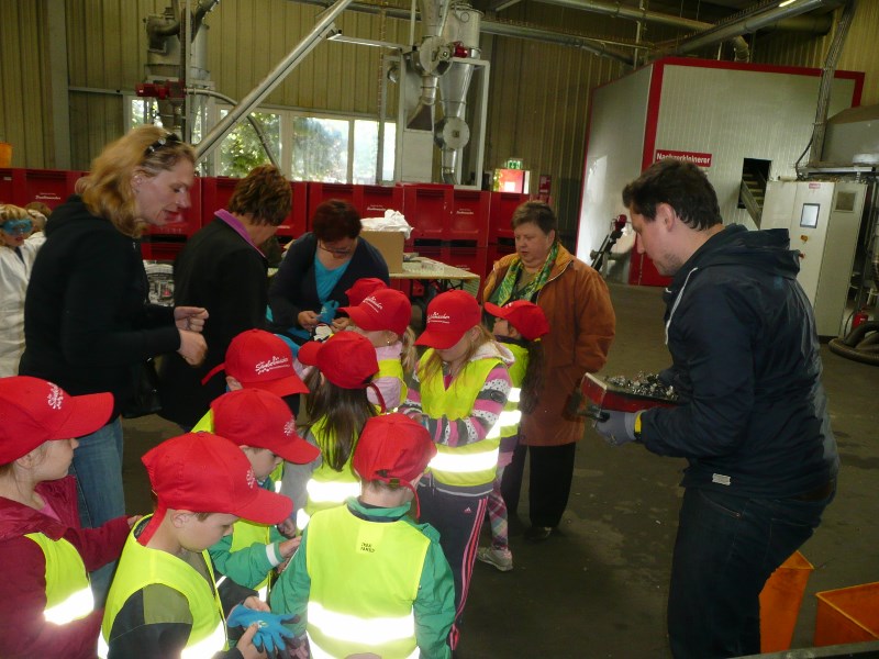
<svg viewBox="0 0 879 659"><path fill-rule="evenodd" d="M53 540L42 533L26 533L24 537L36 543L46 559L46 608L43 611L46 622L66 625L94 611L86 563L76 547L64 538Z"/></svg>

